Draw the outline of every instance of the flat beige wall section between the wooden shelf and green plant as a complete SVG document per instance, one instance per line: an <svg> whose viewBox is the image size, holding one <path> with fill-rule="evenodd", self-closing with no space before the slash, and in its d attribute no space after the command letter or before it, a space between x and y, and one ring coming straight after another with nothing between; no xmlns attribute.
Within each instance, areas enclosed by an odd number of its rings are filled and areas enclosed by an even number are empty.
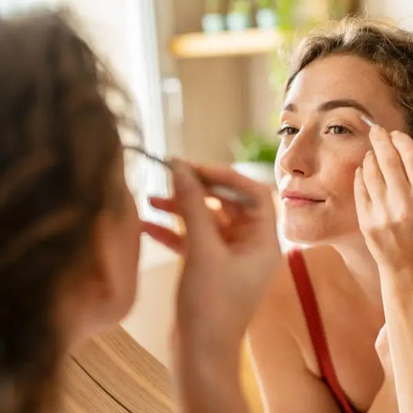
<svg viewBox="0 0 413 413"><path fill-rule="evenodd" d="M187 158L229 161L229 141L248 125L247 82L240 59L181 61L183 143Z"/></svg>

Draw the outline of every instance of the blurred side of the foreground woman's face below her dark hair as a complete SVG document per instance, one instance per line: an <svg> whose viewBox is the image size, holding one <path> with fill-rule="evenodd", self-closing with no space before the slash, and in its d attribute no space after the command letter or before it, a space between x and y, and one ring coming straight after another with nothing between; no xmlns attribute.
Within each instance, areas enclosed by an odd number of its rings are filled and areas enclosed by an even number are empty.
<svg viewBox="0 0 413 413"><path fill-rule="evenodd" d="M67 300L59 299L61 317L67 317L59 323L70 330L70 346L118 324L136 297L142 222L127 187L121 156L114 162L107 180L111 200L96 217L93 247L96 259L87 262L88 276L82 278L84 282L76 284L73 293L67 294ZM75 319L73 313L77 315Z"/></svg>

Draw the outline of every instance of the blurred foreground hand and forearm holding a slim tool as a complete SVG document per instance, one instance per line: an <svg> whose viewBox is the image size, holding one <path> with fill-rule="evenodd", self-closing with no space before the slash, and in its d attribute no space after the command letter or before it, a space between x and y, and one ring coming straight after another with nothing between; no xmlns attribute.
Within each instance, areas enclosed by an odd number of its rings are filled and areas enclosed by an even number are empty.
<svg viewBox="0 0 413 413"><path fill-rule="evenodd" d="M256 206L221 200L222 209L211 212L197 175L243 191ZM151 203L178 213L186 234L153 224L147 233L184 255L172 348L179 411L246 413L240 343L281 262L271 190L229 168L182 162L173 179L175 197Z"/></svg>

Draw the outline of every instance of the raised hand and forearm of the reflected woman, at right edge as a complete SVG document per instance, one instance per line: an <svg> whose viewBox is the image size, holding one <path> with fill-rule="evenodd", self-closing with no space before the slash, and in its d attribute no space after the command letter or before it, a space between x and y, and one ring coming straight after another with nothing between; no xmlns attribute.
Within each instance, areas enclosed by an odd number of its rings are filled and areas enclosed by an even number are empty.
<svg viewBox="0 0 413 413"><path fill-rule="evenodd" d="M413 140L375 126L374 151L356 173L361 231L377 262L385 310L389 366L400 413L413 412ZM387 370L387 371L386 371ZM391 380L390 380L391 381Z"/></svg>

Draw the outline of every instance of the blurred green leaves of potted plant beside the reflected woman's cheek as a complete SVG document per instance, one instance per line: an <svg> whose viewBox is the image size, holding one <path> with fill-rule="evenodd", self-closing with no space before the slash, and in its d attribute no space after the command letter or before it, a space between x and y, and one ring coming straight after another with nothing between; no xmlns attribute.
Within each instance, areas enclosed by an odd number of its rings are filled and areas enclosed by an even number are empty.
<svg viewBox="0 0 413 413"><path fill-rule="evenodd" d="M233 156L237 162L275 162L279 140L256 131L246 129L241 132L239 138L233 142Z"/></svg>

